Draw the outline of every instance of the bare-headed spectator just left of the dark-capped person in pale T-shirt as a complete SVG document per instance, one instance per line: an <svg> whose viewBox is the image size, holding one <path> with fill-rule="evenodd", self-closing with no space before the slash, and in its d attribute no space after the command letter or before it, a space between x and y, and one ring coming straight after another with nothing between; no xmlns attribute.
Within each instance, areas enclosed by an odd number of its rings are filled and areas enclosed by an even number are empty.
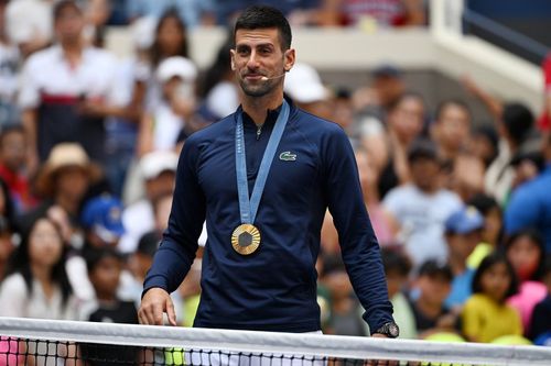
<svg viewBox="0 0 551 366"><path fill-rule="evenodd" d="M379 180L381 198L385 198L390 189L411 180L408 151L421 135L423 120L424 101L418 93L406 92L389 107L387 118L389 158Z"/></svg>

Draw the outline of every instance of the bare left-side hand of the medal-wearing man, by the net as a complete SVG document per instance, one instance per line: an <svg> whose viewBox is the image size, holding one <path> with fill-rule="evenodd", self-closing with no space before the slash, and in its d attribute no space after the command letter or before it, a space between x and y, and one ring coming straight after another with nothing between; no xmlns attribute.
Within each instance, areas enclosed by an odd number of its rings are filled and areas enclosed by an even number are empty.
<svg viewBox="0 0 551 366"><path fill-rule="evenodd" d="M138 310L140 324L163 325L163 313L169 315L169 323L175 326L176 313L169 292L156 287L148 290Z"/></svg>

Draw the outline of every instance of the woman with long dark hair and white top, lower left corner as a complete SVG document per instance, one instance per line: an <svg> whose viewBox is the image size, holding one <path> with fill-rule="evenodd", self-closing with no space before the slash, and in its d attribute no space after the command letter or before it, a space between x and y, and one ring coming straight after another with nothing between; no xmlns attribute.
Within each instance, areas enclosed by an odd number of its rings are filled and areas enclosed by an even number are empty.
<svg viewBox="0 0 551 366"><path fill-rule="evenodd" d="M65 273L65 244L46 215L23 232L0 289L0 315L76 320L77 308Z"/></svg>

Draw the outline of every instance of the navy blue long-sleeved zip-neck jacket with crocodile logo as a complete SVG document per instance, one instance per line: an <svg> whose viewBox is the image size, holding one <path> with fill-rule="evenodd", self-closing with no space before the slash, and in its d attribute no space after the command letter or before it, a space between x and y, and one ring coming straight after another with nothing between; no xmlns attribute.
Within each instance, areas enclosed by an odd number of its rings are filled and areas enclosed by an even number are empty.
<svg viewBox="0 0 551 366"><path fill-rule="evenodd" d="M376 330L392 320L379 245L361 197L354 152L335 123L291 106L255 225L261 245L242 256L231 247L240 224L236 184L236 113L194 133L176 174L169 228L144 281L144 291L174 291L194 259L206 219L201 303L195 326L310 332L321 329L315 262L328 207L354 289ZM249 195L279 111L260 135L244 113ZM280 159L290 152L295 160Z"/></svg>

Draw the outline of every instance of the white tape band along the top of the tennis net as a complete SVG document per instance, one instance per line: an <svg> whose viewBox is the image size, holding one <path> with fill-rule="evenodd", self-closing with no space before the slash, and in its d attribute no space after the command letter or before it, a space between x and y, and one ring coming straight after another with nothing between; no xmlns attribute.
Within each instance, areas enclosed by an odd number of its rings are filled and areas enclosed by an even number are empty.
<svg viewBox="0 0 551 366"><path fill-rule="evenodd" d="M444 362L493 366L549 366L551 364L551 347L541 346L504 346L21 318L0 318L0 335L53 342L161 348L183 347L185 350L216 350L228 353Z"/></svg>

